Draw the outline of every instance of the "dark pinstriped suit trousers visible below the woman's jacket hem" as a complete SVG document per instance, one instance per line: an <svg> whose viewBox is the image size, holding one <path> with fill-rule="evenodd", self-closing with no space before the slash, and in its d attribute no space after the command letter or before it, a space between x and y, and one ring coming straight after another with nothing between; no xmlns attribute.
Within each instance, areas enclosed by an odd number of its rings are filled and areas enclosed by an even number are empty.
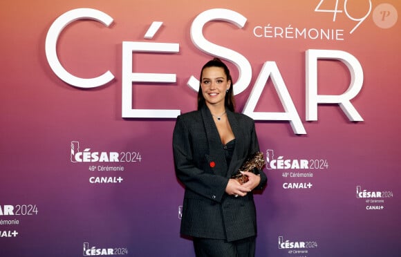
<svg viewBox="0 0 401 257"><path fill-rule="evenodd" d="M232 242L220 239L194 238L196 257L254 257L255 237Z"/></svg>

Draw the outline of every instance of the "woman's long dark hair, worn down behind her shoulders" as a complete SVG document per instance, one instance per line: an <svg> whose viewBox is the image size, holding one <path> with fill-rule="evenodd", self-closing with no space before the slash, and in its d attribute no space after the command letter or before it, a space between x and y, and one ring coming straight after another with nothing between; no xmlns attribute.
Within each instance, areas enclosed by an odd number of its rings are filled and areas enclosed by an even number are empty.
<svg viewBox="0 0 401 257"><path fill-rule="evenodd" d="M200 79L199 79L199 91L198 91L198 110L201 110L201 108L205 105L205 97L203 97L202 88L201 88L202 74L203 74L203 70L205 70L205 68L209 68L209 67L223 68L225 76L227 76L227 80L230 80L231 85L230 85L230 88L228 88L228 92L225 94L224 106L226 108L228 108L230 111L234 111L235 110L235 102L234 102L234 93L232 91L233 83L232 83L232 78L230 75L230 70L228 69L227 65L225 65L223 63L223 61L221 61L221 59L218 59L218 58L214 58L214 59L211 59L210 61L207 61L207 63L202 67L201 76L199 76Z"/></svg>

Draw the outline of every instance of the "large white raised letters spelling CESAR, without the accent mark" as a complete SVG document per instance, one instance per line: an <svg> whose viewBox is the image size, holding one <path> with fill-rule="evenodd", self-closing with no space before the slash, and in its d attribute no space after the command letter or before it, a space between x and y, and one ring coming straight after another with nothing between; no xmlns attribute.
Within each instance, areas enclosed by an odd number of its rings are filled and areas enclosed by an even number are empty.
<svg viewBox="0 0 401 257"><path fill-rule="evenodd" d="M93 19L100 21L104 26L110 26L113 19L104 12L90 8L80 8L70 10L57 18L50 26L46 35L46 57L48 64L55 75L64 82L79 88L95 88L111 82L113 74L108 70L99 77L84 79L76 77L62 66L57 57L57 39L62 30L73 21L80 19ZM193 44L201 51L216 55L222 59L232 62L239 69L239 79L234 84L234 93L242 93L252 79L251 65L243 55L213 44L203 37L203 26L209 21L220 20L235 24L243 28L247 19L238 12L227 9L211 9L202 12L196 17L191 26L191 39ZM154 42L122 42L122 117L135 118L175 118L180 114L180 110L156 110L156 109L133 109L132 108L132 83L133 82L153 82L153 83L174 83L176 74L162 73L132 73L132 53L152 52L152 53L178 53L179 44L154 43ZM348 90L342 95L318 95L317 94L317 61L318 59L335 59L342 61L351 73L351 84ZM279 95L284 112L254 112L254 109L261 97L263 88L272 78L274 88ZM351 121L363 121L355 107L351 104L351 99L362 89L364 74L360 62L353 55L341 50L307 50L306 51L306 120L317 120L318 104L339 104L342 111ZM187 85L198 90L198 79L191 76ZM252 88L248 102L245 104L243 113L249 115L254 120L283 120L290 122L295 134L306 134L305 128L297 113L290 93L281 76L275 61L266 61L263 65L259 77Z"/></svg>

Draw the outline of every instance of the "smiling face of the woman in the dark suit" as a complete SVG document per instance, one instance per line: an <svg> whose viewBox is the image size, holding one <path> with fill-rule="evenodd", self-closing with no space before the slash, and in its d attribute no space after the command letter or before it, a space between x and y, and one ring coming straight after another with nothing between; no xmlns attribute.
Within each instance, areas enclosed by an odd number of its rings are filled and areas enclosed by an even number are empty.
<svg viewBox="0 0 401 257"><path fill-rule="evenodd" d="M227 80L224 69L221 67L207 67L203 69L201 89L207 105L223 104L225 93L231 82Z"/></svg>

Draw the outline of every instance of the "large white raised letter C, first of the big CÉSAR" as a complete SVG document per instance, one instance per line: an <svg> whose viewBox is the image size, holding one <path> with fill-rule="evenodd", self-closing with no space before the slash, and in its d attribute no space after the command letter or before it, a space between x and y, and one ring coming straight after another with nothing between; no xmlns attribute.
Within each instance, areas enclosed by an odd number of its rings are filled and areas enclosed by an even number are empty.
<svg viewBox="0 0 401 257"><path fill-rule="evenodd" d="M75 77L60 64L57 57L57 39L60 33L68 24L78 19L93 19L95 21L100 21L104 26L109 27L113 22L113 18L106 15L100 10L90 9L90 8L79 8L75 10L70 10L60 17L58 17L55 22L50 26L48 33L46 35L46 58L50 68L53 70L55 75L64 82L71 84L72 86L77 86L79 88L95 88L97 86L102 86L114 78L110 70L106 73L100 75L99 77L94 77L91 79L83 79L81 77Z"/></svg>

